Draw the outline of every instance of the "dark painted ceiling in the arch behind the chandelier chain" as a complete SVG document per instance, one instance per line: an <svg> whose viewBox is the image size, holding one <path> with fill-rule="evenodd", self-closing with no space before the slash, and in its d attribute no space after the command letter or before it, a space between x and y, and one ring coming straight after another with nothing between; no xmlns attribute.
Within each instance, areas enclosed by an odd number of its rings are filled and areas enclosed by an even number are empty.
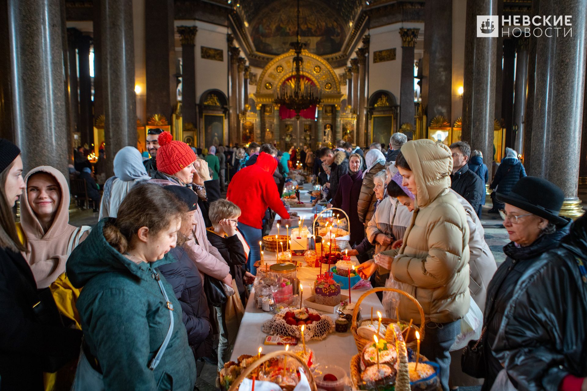
<svg viewBox="0 0 587 391"><path fill-rule="evenodd" d="M331 4L336 5L336 2ZM337 12L331 8L332 5L321 1L300 1L301 40L308 44L306 49L309 52L319 56L340 52L350 30L349 22L343 19L340 10ZM289 43L296 36L296 1L265 2L264 6L255 8L257 12L253 15L249 12L252 18L248 23L255 50L266 55L287 52Z"/></svg>

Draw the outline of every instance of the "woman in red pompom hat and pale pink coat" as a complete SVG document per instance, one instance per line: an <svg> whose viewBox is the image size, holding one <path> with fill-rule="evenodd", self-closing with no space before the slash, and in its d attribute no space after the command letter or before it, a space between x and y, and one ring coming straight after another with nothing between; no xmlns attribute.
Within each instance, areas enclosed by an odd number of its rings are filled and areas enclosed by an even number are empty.
<svg viewBox="0 0 587 391"><path fill-rule="evenodd" d="M198 193L198 190L201 189L197 188L198 185L194 183L194 180L195 178L204 181L210 179L209 172L206 172L208 165L203 161L197 161L194 151L185 142L172 140L170 132L161 133L158 142L160 147L157 150L157 171L151 182L161 186L186 186ZM216 247L208 242L206 224L199 202L198 209L194 214L194 225L195 229L189 238L186 250L190 258L198 266L200 273L231 285L232 277L227 263L222 259Z"/></svg>

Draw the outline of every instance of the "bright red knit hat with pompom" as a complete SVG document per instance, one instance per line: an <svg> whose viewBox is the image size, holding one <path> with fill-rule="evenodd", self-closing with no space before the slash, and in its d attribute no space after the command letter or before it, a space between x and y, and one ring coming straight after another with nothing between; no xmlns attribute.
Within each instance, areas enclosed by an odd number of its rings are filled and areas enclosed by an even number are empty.
<svg viewBox="0 0 587 391"><path fill-rule="evenodd" d="M195 162L194 151L185 142L173 140L170 132L163 132L157 137L157 170L167 175L175 175L183 168Z"/></svg>

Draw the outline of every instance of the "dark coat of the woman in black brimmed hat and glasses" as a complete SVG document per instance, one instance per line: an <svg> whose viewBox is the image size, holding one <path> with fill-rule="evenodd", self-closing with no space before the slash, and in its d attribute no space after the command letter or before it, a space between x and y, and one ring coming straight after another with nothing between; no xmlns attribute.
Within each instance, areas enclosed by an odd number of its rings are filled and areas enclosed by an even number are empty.
<svg viewBox="0 0 587 391"><path fill-rule="evenodd" d="M566 226L557 229L555 233L540 236L527 247L517 247L514 242L504 246L504 253L507 257L504 263L497 268L487 286L487 301L483 314L484 326L487 327L484 341L485 383L483 383L481 390L490 390L497 374L503 369L500 361L493 355L491 347L500 331L505 310L510 304L518 281L534 266L542 254L556 249L561 239L568 234L570 226L569 220ZM540 304L537 302L537 305Z"/></svg>

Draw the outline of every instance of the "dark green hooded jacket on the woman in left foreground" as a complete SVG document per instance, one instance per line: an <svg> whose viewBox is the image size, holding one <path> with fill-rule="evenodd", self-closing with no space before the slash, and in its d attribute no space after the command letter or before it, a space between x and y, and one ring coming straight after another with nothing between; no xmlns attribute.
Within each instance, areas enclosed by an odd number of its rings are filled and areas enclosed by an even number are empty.
<svg viewBox="0 0 587 391"><path fill-rule="evenodd" d="M102 233L106 221L100 220L67 263L70 281L83 287L77 310L85 341L102 368L105 388L193 390L195 361L181 306L160 273L174 307L174 330L157 368L148 368L170 324L165 299L153 276L158 265L174 258L166 255L153 264L134 263L106 242Z"/></svg>

